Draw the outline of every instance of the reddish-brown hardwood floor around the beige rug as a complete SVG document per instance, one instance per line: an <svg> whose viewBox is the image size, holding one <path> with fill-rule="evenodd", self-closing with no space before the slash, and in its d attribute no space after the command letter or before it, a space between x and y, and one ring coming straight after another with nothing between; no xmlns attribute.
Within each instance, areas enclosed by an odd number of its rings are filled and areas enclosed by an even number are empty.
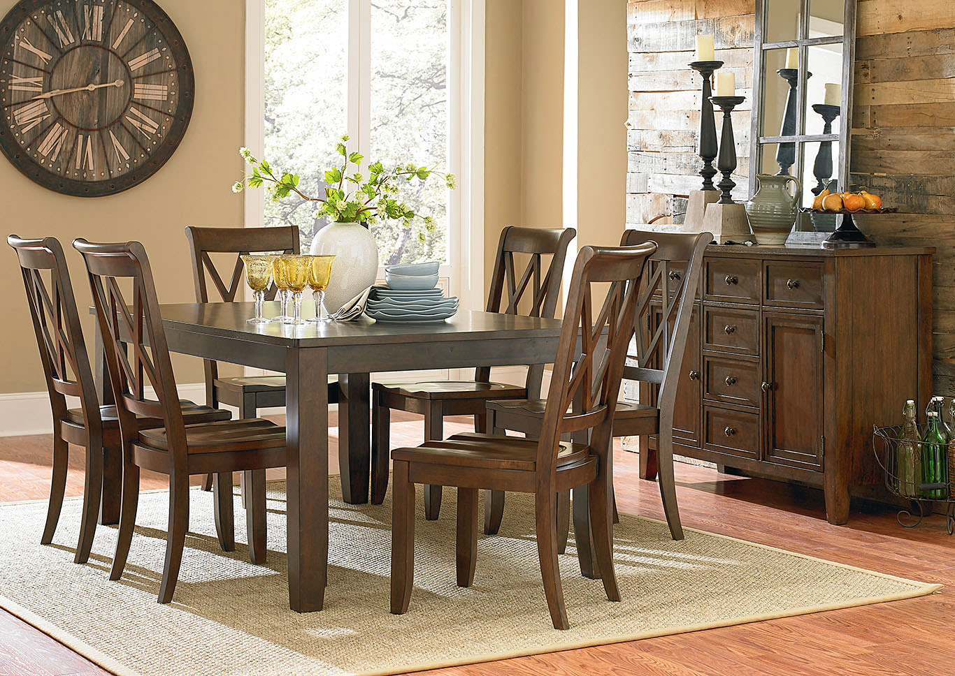
<svg viewBox="0 0 955 676"><path fill-rule="evenodd" d="M335 424L332 419L331 424ZM447 434L470 428L452 420ZM420 442L421 423L394 415L393 446ZM333 438L332 446L337 438ZM71 463L69 495L82 492L82 459ZM0 439L0 502L45 498L49 438ZM336 471L331 454L332 471ZM655 483L637 477L638 459L617 450L616 492L621 511L663 519ZM919 599L835 610L796 618L708 629L645 641L568 650L482 665L423 672L429 676L486 674L748 674L942 676L955 664L955 538L935 515L903 529L895 512L854 504L845 526L825 521L821 491L721 475L678 463L684 525L765 543L830 561L858 565L947 586ZM161 487L144 477L143 488ZM505 516L506 518L506 516ZM37 535L39 537L39 535ZM386 603L387 600L383 600ZM542 594L541 594L542 603ZM573 623L573 618L570 618ZM9 613L0 612L0 676L100 675L102 669Z"/></svg>

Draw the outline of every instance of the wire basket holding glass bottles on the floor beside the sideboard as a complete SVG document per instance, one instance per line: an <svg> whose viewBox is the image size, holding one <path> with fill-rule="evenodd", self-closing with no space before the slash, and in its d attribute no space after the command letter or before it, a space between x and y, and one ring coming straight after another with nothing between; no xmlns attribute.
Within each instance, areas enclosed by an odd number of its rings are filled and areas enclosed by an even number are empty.
<svg viewBox="0 0 955 676"><path fill-rule="evenodd" d="M925 437L927 424L918 425L919 439ZM872 438L876 460L885 476L885 487L891 493L911 501L911 509L902 509L896 520L906 528L914 528L931 513L932 502L946 502L945 528L955 532L955 440L939 443L902 438L902 425L876 427ZM925 504L928 504L926 511Z"/></svg>

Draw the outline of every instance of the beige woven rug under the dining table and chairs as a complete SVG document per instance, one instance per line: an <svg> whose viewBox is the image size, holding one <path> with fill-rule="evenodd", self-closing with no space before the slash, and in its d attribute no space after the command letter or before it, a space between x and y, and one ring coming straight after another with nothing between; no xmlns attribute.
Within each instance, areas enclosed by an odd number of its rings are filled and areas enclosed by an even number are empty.
<svg viewBox="0 0 955 676"><path fill-rule="evenodd" d="M339 482L331 481L333 490ZM167 495L144 493L122 580L107 579L114 528L100 526L89 564L73 563L80 502L64 504L53 544L39 544L46 505L0 506L0 599L14 614L118 674L369 674L468 664L517 655L736 625L931 593L922 584L621 515L615 555L623 602L606 601L581 577L573 549L562 557L569 631L550 624L543 598L533 502L508 496L499 536L478 544L470 589L455 585L455 495L441 518L416 526L411 608L388 612L391 508L332 497L325 610L288 609L285 484L269 484L268 563L247 549L224 554L212 499L194 491L191 527L172 604L156 595ZM245 542L236 505L237 541Z"/></svg>

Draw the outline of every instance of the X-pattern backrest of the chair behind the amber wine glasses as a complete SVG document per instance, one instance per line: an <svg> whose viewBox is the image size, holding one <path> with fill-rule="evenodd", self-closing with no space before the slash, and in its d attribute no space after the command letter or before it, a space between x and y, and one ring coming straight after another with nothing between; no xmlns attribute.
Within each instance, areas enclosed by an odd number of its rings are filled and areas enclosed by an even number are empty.
<svg viewBox="0 0 955 676"><path fill-rule="evenodd" d="M198 228L190 225L185 229L192 252L192 276L196 286L196 302L209 302L206 277L212 280L219 299L233 302L243 285L244 264L242 257L247 254L300 252L298 226L281 228ZM232 261L231 277L226 284L211 254L235 254ZM265 299L275 297L278 289L269 284ZM215 302L215 301L213 301ZM219 378L219 365L212 359L203 359L205 367L205 399L210 406L217 406L213 382Z"/></svg>

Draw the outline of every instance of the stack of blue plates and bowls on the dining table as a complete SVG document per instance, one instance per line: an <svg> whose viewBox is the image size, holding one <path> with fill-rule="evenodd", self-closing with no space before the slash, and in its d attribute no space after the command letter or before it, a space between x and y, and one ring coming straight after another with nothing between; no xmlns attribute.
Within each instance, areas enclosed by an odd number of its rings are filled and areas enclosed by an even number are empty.
<svg viewBox="0 0 955 676"><path fill-rule="evenodd" d="M457 312L457 298L435 288L437 263L389 266L385 278L388 286L371 287L365 309L376 321L444 321Z"/></svg>

